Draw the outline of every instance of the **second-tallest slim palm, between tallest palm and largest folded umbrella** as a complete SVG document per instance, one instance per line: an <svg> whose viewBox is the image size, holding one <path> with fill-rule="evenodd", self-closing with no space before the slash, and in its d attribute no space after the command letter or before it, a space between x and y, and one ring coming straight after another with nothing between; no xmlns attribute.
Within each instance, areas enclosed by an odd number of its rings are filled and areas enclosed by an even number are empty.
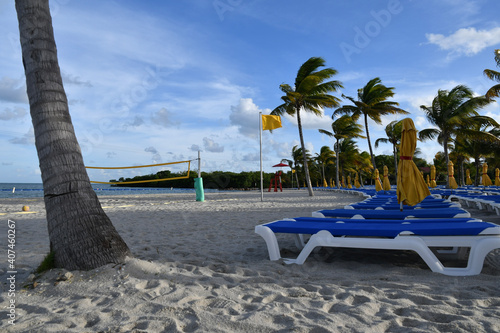
<svg viewBox="0 0 500 333"><path fill-rule="evenodd" d="M372 144L370 141L370 132L368 130L368 118L382 124L382 116L390 114L408 114L409 112L398 108L399 103L388 101L387 99L394 96L394 87L386 87L382 84L380 78L376 77L368 81L368 83L361 89L358 89L357 100L342 95L352 102L354 105L343 105L335 110L335 114L348 114L352 115L355 121L361 116L364 118L364 125L366 131L366 139L368 141L368 148L370 149L370 156L372 159L373 169L377 168L375 164L375 157L373 155Z"/></svg>

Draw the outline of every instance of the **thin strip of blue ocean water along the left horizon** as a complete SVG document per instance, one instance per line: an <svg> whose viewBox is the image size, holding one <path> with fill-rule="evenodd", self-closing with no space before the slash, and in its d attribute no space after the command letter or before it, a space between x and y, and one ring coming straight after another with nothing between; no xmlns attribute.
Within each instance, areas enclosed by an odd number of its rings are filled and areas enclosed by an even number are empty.
<svg viewBox="0 0 500 333"><path fill-rule="evenodd" d="M140 187L111 187L109 184L92 184L97 195L126 195L152 193L195 193L190 188L140 188ZM217 190L205 189L205 192ZM0 198L40 198L43 197L41 183L0 183Z"/></svg>

